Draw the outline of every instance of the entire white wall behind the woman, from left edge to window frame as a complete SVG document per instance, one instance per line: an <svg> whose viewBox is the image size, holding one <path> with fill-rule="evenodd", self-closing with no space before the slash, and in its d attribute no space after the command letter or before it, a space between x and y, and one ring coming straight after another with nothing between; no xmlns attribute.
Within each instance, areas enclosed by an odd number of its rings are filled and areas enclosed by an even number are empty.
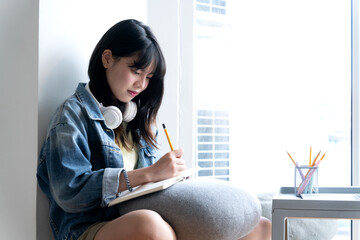
<svg viewBox="0 0 360 240"><path fill-rule="evenodd" d="M1 239L51 239L47 201L41 192L36 194L38 151L55 108L78 82L88 81L87 64L95 44L121 19L149 24L162 45L168 71L159 123L168 125L178 145L179 35L174 29L179 2L150 1L148 12L146 3L0 0ZM159 15L159 5L168 11ZM166 151L167 142L160 135Z"/></svg>

